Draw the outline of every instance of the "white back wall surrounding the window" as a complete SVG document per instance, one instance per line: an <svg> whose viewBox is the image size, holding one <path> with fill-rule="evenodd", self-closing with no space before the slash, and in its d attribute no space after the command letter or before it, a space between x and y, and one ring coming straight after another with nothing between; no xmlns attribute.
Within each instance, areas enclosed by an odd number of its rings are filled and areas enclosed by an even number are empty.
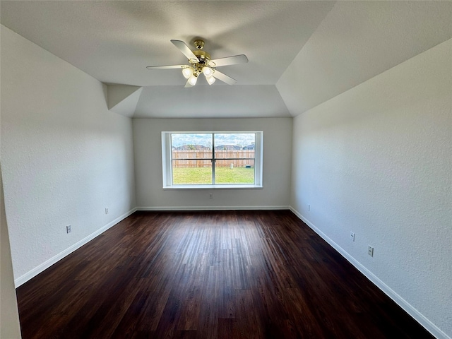
<svg viewBox="0 0 452 339"><path fill-rule="evenodd" d="M162 189L162 131L263 131L263 189ZM289 206L292 118L133 119L133 139L138 208Z"/></svg>

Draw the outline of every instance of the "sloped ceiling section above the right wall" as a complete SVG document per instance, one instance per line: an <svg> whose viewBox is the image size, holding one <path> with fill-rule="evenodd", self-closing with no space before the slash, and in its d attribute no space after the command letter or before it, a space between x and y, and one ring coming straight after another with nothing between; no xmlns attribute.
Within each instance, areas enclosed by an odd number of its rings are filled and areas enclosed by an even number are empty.
<svg viewBox="0 0 452 339"><path fill-rule="evenodd" d="M292 117L452 37L452 1L339 1L276 83Z"/></svg>

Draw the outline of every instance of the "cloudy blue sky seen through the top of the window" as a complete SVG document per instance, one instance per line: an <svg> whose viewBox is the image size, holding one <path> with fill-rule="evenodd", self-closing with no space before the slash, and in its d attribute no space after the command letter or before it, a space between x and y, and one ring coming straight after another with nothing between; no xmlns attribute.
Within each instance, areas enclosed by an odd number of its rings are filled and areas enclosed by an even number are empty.
<svg viewBox="0 0 452 339"><path fill-rule="evenodd" d="M254 133L215 133L215 146L251 145L255 142ZM183 145L212 146L212 133L172 133L171 143L174 147Z"/></svg>

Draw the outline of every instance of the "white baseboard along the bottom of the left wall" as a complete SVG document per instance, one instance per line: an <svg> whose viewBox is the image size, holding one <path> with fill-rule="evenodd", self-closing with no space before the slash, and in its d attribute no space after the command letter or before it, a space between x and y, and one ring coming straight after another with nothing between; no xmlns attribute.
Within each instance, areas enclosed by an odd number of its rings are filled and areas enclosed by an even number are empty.
<svg viewBox="0 0 452 339"><path fill-rule="evenodd" d="M95 237L97 237L98 235L102 234L103 232L108 230L110 227L116 225L121 220L124 220L125 218L127 218L129 215L131 215L135 211L136 211L136 208L132 208L131 210L129 210L129 212L124 213L123 215L119 216L118 218L116 218L112 222L109 222L104 227L101 227L99 230L91 233L90 235L88 235L88 237L85 237L85 238L81 239L79 242L76 242L75 244L73 244L69 248L65 249L64 251L60 252L56 256L53 256L52 258L49 258L49 260L44 261L44 263L41 263L39 266L36 266L35 268L33 268L32 270L28 271L24 275L21 275L19 278L14 280L14 285L16 285L16 288L17 288L20 285L22 285L23 283L26 283L28 280L30 280L31 278L35 277L39 273L41 273L43 270L49 268L54 263L57 263L57 261L60 261L62 258L67 256L68 254L71 254L76 249L79 249L84 244L90 242L90 240L93 240Z"/></svg>

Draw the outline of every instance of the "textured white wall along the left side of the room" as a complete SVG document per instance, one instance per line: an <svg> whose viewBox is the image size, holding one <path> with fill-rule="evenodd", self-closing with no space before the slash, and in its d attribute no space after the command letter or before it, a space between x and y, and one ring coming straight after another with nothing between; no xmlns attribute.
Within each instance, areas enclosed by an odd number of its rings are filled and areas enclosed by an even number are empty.
<svg viewBox="0 0 452 339"><path fill-rule="evenodd" d="M16 285L136 206L131 119L109 112L105 93L1 26L1 161Z"/></svg>

